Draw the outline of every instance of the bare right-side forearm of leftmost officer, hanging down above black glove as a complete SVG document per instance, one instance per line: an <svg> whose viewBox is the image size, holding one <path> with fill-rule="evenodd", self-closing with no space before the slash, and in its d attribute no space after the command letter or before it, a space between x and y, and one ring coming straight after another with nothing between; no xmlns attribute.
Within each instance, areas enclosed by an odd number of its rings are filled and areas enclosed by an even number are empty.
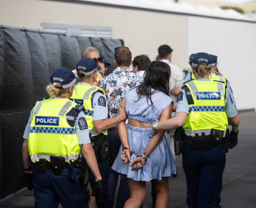
<svg viewBox="0 0 256 208"><path fill-rule="evenodd" d="M86 160L86 163L88 164L89 168L91 169L93 175L95 176L95 179L102 180L102 177L101 177L100 171L99 171L99 167L98 167L98 163L97 163L93 148L91 146L91 143L82 145L82 154Z"/></svg>

